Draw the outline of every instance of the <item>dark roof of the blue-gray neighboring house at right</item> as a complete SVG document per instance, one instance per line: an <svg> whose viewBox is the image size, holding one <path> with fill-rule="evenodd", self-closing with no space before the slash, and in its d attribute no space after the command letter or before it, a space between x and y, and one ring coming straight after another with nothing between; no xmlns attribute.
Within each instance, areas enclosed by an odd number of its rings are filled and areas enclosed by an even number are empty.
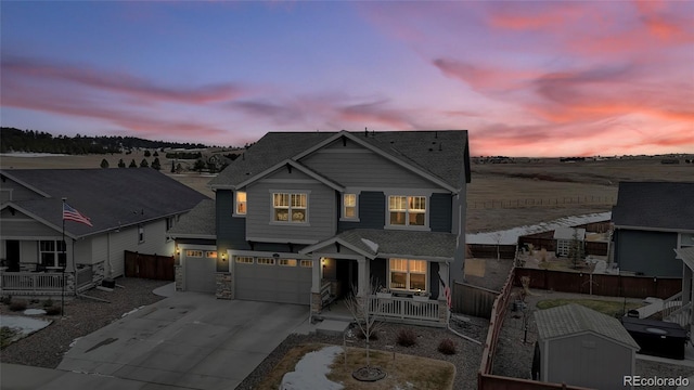
<svg viewBox="0 0 694 390"><path fill-rule="evenodd" d="M620 182L617 227L694 231L694 182Z"/></svg>

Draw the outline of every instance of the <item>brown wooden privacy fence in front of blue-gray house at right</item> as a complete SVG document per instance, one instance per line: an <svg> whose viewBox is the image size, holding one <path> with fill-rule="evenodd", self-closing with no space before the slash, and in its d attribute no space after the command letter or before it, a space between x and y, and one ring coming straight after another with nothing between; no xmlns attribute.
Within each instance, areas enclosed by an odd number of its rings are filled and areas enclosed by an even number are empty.
<svg viewBox="0 0 694 390"><path fill-rule="evenodd" d="M590 274L587 272L515 269L515 285L530 277L530 288L607 297L669 298L682 290L682 278Z"/></svg>

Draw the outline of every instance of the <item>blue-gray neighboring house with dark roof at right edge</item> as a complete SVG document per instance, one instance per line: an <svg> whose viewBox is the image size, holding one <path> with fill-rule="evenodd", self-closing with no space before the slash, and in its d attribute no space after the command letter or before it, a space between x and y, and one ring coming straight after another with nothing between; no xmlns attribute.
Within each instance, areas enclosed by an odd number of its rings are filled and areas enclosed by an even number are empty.
<svg viewBox="0 0 694 390"><path fill-rule="evenodd" d="M621 182L613 208L621 272L682 277L673 249L694 246L694 182Z"/></svg>

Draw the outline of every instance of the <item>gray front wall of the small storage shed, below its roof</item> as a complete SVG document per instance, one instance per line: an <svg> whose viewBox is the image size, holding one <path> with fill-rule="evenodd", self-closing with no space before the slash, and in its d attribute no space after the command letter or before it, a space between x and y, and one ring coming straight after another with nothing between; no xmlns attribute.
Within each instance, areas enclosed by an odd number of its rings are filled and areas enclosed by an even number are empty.
<svg viewBox="0 0 694 390"><path fill-rule="evenodd" d="M631 349L594 334L550 340L547 353L550 382L620 389L624 376L632 375Z"/></svg>

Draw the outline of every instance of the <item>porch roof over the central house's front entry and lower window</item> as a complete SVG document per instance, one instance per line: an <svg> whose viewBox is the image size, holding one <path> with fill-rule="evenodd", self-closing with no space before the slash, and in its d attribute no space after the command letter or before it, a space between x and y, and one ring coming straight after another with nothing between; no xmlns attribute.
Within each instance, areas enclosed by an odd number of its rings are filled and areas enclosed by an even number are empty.
<svg viewBox="0 0 694 390"><path fill-rule="evenodd" d="M338 243L370 259L413 258L452 261L458 237L452 233L352 229L300 250L310 253Z"/></svg>

